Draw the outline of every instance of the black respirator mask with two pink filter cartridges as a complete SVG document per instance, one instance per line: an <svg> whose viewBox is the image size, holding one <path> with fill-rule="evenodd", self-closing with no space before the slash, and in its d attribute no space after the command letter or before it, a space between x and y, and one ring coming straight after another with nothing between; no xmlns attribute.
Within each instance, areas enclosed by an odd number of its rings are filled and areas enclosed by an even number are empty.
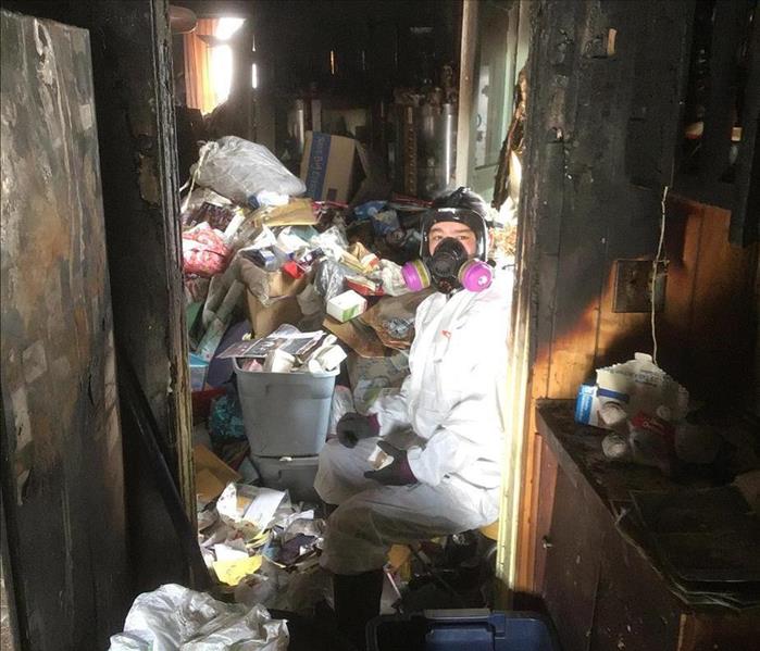
<svg viewBox="0 0 760 651"><path fill-rule="evenodd" d="M461 241L453 237L441 239L433 254L429 253L429 231L439 222L464 224L476 238L474 258L468 254ZM483 291L494 280L493 268L484 262L486 256L486 223L476 212L462 208L439 208L426 213L422 221L421 260L408 262L401 274L411 291L433 286L438 291L451 293L458 289Z"/></svg>

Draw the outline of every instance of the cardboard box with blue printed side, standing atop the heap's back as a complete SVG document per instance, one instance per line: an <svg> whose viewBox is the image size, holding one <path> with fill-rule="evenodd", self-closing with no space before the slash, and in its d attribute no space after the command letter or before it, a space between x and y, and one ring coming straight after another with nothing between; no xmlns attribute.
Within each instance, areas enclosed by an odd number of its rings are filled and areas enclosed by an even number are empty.
<svg viewBox="0 0 760 651"><path fill-rule="evenodd" d="M356 154L353 138L307 132L301 159L301 180L307 186L307 196L347 203L353 193Z"/></svg>

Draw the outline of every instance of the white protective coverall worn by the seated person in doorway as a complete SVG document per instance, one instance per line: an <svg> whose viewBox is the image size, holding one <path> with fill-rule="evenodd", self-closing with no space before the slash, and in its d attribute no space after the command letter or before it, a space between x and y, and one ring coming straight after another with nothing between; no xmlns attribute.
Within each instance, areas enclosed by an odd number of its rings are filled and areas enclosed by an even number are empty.
<svg viewBox="0 0 760 651"><path fill-rule="evenodd" d="M314 487L329 504L321 565L336 574L382 567L394 543L473 529L498 517L512 275L482 292L440 292L418 308L410 375L367 410L379 436L408 450L419 484L383 486L364 477L376 437L354 448L337 439L320 454Z"/></svg>

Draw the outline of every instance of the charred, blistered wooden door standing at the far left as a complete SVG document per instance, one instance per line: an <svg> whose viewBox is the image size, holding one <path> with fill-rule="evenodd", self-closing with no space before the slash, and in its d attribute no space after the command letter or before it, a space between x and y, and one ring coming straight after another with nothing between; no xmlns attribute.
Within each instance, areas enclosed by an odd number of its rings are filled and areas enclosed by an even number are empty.
<svg viewBox="0 0 760 651"><path fill-rule="evenodd" d="M0 25L0 464L18 641L104 648L128 592L89 35L7 11Z"/></svg>

